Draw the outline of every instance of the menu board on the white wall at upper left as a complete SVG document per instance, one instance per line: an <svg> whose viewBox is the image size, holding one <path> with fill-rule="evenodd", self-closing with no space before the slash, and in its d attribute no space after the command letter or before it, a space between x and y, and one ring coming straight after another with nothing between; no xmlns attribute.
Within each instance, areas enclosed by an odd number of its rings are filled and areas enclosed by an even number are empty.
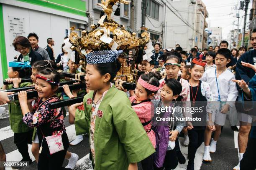
<svg viewBox="0 0 256 170"><path fill-rule="evenodd" d="M13 40L17 36L25 36L25 18L23 17L13 17L8 16L9 20L9 37L10 37L10 43L13 43Z"/></svg>

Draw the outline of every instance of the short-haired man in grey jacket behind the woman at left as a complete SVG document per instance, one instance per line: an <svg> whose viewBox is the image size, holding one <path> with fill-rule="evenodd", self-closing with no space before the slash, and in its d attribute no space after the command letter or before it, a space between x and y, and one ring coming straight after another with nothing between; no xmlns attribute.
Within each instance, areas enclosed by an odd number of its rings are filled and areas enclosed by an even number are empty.
<svg viewBox="0 0 256 170"><path fill-rule="evenodd" d="M31 44L32 50L41 54L42 57L43 57L43 60L50 60L48 52L46 50L44 50L44 48L39 47L39 45L38 45L39 40L38 39L39 38L38 38L38 36L36 35L35 32L28 34L28 40Z"/></svg>

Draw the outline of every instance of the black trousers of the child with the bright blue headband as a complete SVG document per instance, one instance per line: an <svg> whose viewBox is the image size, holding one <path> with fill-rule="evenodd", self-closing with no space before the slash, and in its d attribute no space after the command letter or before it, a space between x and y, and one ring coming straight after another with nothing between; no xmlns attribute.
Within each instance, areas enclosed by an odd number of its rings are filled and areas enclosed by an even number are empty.
<svg viewBox="0 0 256 170"><path fill-rule="evenodd" d="M29 161L28 144L32 144L33 130L24 133L14 133L14 143L22 155L22 161Z"/></svg>

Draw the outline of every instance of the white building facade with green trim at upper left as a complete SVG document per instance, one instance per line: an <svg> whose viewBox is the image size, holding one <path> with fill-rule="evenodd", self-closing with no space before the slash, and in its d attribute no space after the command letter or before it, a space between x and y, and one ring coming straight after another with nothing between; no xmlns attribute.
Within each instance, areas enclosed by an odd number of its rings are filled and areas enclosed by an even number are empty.
<svg viewBox="0 0 256 170"><path fill-rule="evenodd" d="M55 41L55 55L61 53L64 37L69 35L69 28L85 28L88 24L86 4L83 0L69 3L58 0L0 0L0 85L7 78L8 62L20 53L14 50L13 40L18 35L27 37L35 32L39 37L38 45L46 47L47 38Z"/></svg>

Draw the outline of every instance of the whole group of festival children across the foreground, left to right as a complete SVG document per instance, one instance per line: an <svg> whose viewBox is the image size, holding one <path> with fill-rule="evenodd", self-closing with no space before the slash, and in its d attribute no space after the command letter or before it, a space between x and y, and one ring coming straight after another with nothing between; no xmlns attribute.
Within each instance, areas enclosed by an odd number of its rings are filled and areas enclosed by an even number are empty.
<svg viewBox="0 0 256 170"><path fill-rule="evenodd" d="M136 89L129 98L111 82L120 70L116 59L122 52L95 51L86 55L87 94L83 103L69 106L69 122L75 125L76 134L89 134L93 168L136 170L137 163L141 162L144 170L175 169L178 163L185 163L179 148L181 132L185 140L189 140L187 170L194 170L195 153L202 142L205 142L203 160L212 161L210 153L216 151L221 126L234 107L238 93L232 81L234 75L226 68L230 50L220 49L216 55L209 52L206 63L194 57L190 65L184 60L186 57L166 52L159 57L160 69L154 69L154 60L143 60L140 67L146 74L138 77ZM69 62L69 71L77 73L76 65ZM164 72L166 77L162 78L159 72ZM22 161L32 161L27 144L34 135L32 153L38 170L59 170L64 158L69 159L66 168L73 169L78 156L67 151L64 110L49 107L51 102L60 100L56 96L59 72L49 61L35 62L32 69L23 62L10 62L8 76L13 85L4 89L31 85L20 83L20 78L31 76L38 92L33 102L27 99L26 91L20 91L19 104L16 101L9 105L14 143L23 156ZM64 89L69 98L75 97L76 92L70 92L68 86L64 85ZM158 108L166 106L176 109L157 113ZM187 110L179 111L182 107L203 109L191 114ZM159 121L157 117L174 119ZM184 117L192 120L185 121ZM200 121L195 121L196 117L200 117ZM34 127L36 134L33 134Z"/></svg>

